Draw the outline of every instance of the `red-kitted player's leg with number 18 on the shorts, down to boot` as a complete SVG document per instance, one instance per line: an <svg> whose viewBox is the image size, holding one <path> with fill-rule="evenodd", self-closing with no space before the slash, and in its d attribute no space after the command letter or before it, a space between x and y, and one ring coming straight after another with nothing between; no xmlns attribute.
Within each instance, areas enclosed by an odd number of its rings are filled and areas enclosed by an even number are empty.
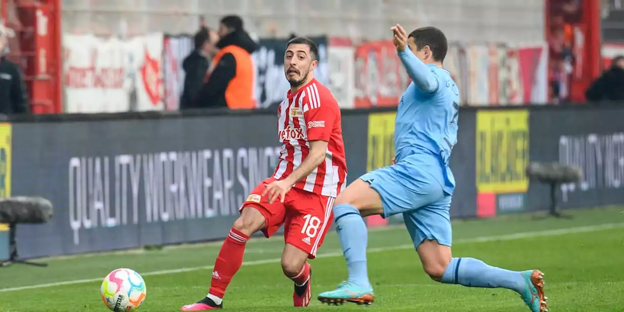
<svg viewBox="0 0 624 312"><path fill-rule="evenodd" d="M281 257L281 268L284 275L295 283L293 305L308 306L312 298L312 270L307 260L316 258L316 251L331 227L331 207L335 198L298 188L290 190L286 197L286 246Z"/></svg>

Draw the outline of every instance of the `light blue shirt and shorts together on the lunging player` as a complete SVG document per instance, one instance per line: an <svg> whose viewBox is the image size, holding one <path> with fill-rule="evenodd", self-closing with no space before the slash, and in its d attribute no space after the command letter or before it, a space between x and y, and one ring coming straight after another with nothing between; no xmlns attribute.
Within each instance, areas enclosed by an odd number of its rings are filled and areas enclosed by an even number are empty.
<svg viewBox="0 0 624 312"><path fill-rule="evenodd" d="M408 49L399 57L412 83L396 114L396 164L361 179L379 193L382 217L403 214L414 246L426 239L451 246L455 179L449 160L457 143L459 92L446 70L424 64Z"/></svg>

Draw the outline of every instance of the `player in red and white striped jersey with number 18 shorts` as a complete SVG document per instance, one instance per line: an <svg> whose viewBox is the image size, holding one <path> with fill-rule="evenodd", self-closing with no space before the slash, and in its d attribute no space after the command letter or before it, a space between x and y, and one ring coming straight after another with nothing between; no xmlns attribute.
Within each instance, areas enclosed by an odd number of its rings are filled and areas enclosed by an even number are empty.
<svg viewBox="0 0 624 312"><path fill-rule="evenodd" d="M280 162L272 177L260 183L241 207L223 242L208 295L182 311L223 307L225 289L243 263L250 236L261 230L268 238L284 225L284 274L295 283L293 305L308 306L310 263L333 220L334 199L347 176L340 109L331 92L314 79L318 47L296 37L288 42L284 72L291 88L278 109Z"/></svg>

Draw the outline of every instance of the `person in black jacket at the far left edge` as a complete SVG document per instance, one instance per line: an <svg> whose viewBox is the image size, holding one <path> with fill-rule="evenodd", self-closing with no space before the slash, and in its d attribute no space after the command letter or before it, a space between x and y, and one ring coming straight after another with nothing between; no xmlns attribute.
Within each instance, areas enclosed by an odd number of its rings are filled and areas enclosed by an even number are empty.
<svg viewBox="0 0 624 312"><path fill-rule="evenodd" d="M12 32L0 24L0 114L28 113L28 95L21 69L6 59Z"/></svg>

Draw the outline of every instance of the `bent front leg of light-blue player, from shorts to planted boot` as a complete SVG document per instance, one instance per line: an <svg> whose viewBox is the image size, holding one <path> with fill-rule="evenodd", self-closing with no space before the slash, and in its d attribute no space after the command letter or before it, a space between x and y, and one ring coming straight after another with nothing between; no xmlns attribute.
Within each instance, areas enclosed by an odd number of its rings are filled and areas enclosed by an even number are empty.
<svg viewBox="0 0 624 312"><path fill-rule="evenodd" d="M404 177L412 169L404 163L379 168L351 183L336 198L334 221L347 261L349 278L335 290L321 293L318 296L319 301L333 304L373 303L373 288L366 268L368 232L363 217L389 217L421 207L442 196L439 183L435 182L433 185L437 185L439 189L436 193L437 189L432 188L432 184L417 173L409 175L409 184L415 186L406 187Z"/></svg>

